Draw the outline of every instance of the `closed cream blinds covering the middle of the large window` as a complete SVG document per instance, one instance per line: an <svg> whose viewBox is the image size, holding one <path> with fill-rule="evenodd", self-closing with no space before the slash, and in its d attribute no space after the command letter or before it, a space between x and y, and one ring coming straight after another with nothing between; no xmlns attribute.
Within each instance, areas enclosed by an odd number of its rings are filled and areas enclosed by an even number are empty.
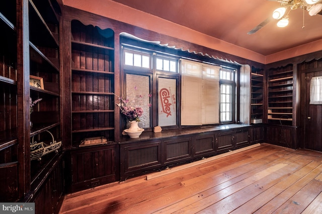
<svg viewBox="0 0 322 214"><path fill-rule="evenodd" d="M181 60L181 125L219 123L220 66Z"/></svg>

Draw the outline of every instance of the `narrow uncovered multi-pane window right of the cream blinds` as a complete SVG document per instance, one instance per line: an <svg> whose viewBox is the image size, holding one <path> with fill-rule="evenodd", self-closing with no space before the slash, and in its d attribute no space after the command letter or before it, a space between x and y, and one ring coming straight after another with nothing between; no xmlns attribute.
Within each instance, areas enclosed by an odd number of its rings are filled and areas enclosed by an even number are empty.
<svg viewBox="0 0 322 214"><path fill-rule="evenodd" d="M220 69L220 122L233 122L234 70Z"/></svg>

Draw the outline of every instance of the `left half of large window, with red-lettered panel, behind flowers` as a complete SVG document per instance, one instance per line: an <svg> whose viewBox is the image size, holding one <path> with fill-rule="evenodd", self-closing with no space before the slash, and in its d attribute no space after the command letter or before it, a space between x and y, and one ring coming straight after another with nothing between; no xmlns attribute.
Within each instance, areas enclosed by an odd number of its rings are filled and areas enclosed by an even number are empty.
<svg viewBox="0 0 322 214"><path fill-rule="evenodd" d="M129 96L133 88L140 95L155 94L151 97L140 97L141 100L143 98L145 107L139 127L178 128L178 59L126 44L123 44L123 59L125 95Z"/></svg>

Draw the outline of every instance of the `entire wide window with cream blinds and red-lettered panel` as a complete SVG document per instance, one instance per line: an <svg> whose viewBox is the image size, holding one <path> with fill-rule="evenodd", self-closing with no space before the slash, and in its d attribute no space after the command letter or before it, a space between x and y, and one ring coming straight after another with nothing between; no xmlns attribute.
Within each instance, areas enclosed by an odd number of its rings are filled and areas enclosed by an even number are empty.
<svg viewBox="0 0 322 214"><path fill-rule="evenodd" d="M141 128L174 129L235 122L236 68L179 60L177 53L154 48L122 42L122 93L126 95L137 86L144 90L142 94L152 94L146 100L150 107L144 111L149 115L140 118Z"/></svg>

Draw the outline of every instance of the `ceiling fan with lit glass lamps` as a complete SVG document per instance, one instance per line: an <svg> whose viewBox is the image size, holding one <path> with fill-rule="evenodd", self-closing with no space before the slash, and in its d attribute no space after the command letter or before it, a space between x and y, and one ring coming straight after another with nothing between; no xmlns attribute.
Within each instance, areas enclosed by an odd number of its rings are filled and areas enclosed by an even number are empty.
<svg viewBox="0 0 322 214"><path fill-rule="evenodd" d="M269 23L272 19L279 20L277 23L278 27L286 27L288 25L288 14L292 10L296 10L298 8L302 8L303 10L308 11L310 16L314 16L316 14L322 15L322 0L269 0L280 3L280 8L277 8L272 17L267 18L258 26L253 28L247 34L254 34L261 28L263 28L267 23ZM286 13L287 12L287 13Z"/></svg>

